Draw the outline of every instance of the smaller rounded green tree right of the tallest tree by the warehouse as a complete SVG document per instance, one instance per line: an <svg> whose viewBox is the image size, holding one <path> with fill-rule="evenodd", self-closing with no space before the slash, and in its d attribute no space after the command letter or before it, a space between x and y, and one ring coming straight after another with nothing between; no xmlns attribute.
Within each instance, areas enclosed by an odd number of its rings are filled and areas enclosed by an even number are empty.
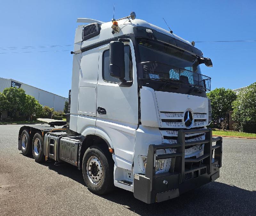
<svg viewBox="0 0 256 216"><path fill-rule="evenodd" d="M40 115L43 112L43 107L41 104L39 104L35 97L26 95L26 102L23 112L28 116Z"/></svg>

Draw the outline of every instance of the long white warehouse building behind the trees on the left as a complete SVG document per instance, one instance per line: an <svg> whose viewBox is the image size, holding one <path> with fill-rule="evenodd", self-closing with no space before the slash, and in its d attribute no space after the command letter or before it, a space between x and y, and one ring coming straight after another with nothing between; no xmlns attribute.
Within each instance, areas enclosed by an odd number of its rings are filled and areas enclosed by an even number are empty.
<svg viewBox="0 0 256 216"><path fill-rule="evenodd" d="M41 105L49 106L51 108L54 108L54 110L56 111L63 111L65 101L68 101L68 98L66 97L61 97L51 92L38 89L34 86L16 81L14 79L5 79L0 77L0 92L3 92L5 88L9 88L11 86L24 89L27 95L35 97Z"/></svg>

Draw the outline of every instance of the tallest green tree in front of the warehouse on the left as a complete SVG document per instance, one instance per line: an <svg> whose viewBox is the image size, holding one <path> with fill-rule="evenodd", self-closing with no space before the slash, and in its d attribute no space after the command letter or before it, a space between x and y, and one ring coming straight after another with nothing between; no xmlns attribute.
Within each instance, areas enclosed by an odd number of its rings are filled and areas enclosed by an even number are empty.
<svg viewBox="0 0 256 216"><path fill-rule="evenodd" d="M5 95L5 106L4 108L11 112L11 115L15 115L16 112L23 112L26 101L25 90L21 88L5 88L3 90Z"/></svg>

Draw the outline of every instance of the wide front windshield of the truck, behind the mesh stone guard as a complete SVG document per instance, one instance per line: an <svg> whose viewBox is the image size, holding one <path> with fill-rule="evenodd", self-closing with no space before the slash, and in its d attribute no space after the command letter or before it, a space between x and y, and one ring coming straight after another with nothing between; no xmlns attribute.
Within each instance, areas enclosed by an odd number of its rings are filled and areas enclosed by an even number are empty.
<svg viewBox="0 0 256 216"><path fill-rule="evenodd" d="M210 90L211 78L201 74L195 55L168 44L138 39L140 79L172 80Z"/></svg>

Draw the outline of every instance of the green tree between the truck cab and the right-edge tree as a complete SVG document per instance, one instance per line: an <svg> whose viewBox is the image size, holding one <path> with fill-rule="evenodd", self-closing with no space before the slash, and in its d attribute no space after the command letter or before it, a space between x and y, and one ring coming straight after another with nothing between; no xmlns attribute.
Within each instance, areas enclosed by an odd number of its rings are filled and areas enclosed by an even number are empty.
<svg viewBox="0 0 256 216"><path fill-rule="evenodd" d="M222 87L208 92L207 97L212 104L212 120L218 121L228 111L232 111L232 102L236 99L236 93Z"/></svg>

